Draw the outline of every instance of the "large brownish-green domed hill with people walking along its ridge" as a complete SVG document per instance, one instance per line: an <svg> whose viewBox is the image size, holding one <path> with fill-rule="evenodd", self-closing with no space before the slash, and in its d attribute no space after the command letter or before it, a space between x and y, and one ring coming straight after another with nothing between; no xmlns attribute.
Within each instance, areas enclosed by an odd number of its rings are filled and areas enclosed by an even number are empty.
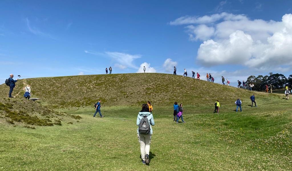
<svg viewBox="0 0 292 171"><path fill-rule="evenodd" d="M215 100L233 104L237 97L249 100L251 92L208 81L172 74L102 74L22 79L16 83L13 95L23 98L23 87L30 84L32 97L41 98L42 104L54 107L86 107L101 99L104 105L136 105L150 100L155 105L183 102L187 105L213 105ZM0 85L6 97L9 91ZM266 93L254 92L258 97Z"/></svg>

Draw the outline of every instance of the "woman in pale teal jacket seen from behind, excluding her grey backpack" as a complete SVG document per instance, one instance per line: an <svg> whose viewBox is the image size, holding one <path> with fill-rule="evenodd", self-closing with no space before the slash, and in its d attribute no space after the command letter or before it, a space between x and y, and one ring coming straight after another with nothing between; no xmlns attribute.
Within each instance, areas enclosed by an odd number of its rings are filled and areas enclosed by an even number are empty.
<svg viewBox="0 0 292 171"><path fill-rule="evenodd" d="M139 112L137 116L137 126L139 126L141 119L147 116L149 125L150 125L150 133L149 134L141 134L139 133L139 127L137 128L137 134L138 134L138 141L140 143L140 152L141 152L141 158L143 164L149 164L149 153L150 153L150 142L151 142L151 136L153 133L151 125L155 125L154 118L152 113L149 112L149 107L147 104L142 104L142 110Z"/></svg>

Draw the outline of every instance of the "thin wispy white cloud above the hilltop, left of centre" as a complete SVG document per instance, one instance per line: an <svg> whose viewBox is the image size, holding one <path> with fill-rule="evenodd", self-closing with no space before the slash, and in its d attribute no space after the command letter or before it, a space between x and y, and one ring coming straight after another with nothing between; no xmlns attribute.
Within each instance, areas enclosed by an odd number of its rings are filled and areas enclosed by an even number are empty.
<svg viewBox="0 0 292 171"><path fill-rule="evenodd" d="M117 67L120 69L126 69L126 68L132 68L132 69L138 69L138 67L133 64L133 61L135 59L138 59L141 57L141 55L131 55L128 53L121 53L121 52L105 52L105 53L100 53L100 52L95 52L95 51L89 51L89 50L84 50L85 53L89 53L92 55L96 56L106 56L110 57L116 64Z"/></svg>

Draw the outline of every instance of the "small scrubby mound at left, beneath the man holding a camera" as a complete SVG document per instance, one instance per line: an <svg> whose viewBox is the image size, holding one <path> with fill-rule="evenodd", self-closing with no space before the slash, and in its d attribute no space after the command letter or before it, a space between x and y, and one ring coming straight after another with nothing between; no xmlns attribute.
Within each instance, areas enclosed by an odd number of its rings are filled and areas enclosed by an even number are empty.
<svg viewBox="0 0 292 171"><path fill-rule="evenodd" d="M62 125L62 121L80 119L80 116L61 113L25 99L0 100L0 122L12 125L36 126Z"/></svg>

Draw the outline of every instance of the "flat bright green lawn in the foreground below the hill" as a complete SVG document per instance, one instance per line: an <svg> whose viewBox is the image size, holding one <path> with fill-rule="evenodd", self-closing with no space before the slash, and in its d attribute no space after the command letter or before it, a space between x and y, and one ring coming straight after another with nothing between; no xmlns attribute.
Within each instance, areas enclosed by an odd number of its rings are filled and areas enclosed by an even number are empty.
<svg viewBox="0 0 292 171"><path fill-rule="evenodd" d="M185 106L186 124L172 106L154 105L150 166L142 165L136 134L140 107L67 110L78 123L36 129L0 125L0 170L291 170L291 103L271 96L258 108Z"/></svg>

